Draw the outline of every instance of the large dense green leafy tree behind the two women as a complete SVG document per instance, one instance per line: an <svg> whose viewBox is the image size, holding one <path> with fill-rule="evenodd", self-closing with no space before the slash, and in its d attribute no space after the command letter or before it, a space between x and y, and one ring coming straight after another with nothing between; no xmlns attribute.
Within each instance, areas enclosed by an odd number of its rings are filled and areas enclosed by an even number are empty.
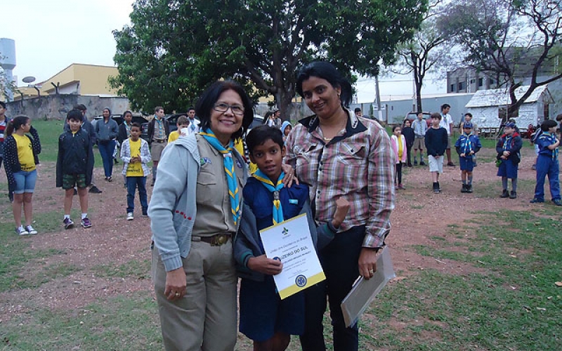
<svg viewBox="0 0 562 351"><path fill-rule="evenodd" d="M137 0L131 26L114 32L111 84L134 108L185 110L216 79L273 95L282 116L295 73L311 60L376 74L412 38L427 0Z"/></svg>

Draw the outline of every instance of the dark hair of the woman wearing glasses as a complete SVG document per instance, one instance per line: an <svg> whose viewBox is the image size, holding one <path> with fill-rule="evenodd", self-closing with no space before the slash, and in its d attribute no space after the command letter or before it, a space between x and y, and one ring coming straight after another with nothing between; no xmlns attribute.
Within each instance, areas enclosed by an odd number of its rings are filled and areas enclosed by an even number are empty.
<svg viewBox="0 0 562 351"><path fill-rule="evenodd" d="M225 91L232 90L235 91L240 96L242 100L242 105L244 105L244 117L242 118L242 127L233 133L232 138L242 138L242 135L246 133L251 121L254 120L254 105L252 104L248 94L244 91L244 88L235 81L216 81L207 90L205 90L197 104L195 105L195 114L199 117L201 121L201 129L211 127L211 112L213 107L217 102L218 98Z"/></svg>

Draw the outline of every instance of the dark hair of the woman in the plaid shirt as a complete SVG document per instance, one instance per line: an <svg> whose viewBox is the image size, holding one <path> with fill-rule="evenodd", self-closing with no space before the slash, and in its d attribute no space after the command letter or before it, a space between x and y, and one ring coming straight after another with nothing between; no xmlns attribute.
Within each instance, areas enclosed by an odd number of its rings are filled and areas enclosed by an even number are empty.
<svg viewBox="0 0 562 351"><path fill-rule="evenodd" d="M303 96L303 81L310 77L326 79L334 88L341 88L339 100L343 107L349 107L352 89L349 81L329 62L315 61L303 66L296 75L296 92Z"/></svg>

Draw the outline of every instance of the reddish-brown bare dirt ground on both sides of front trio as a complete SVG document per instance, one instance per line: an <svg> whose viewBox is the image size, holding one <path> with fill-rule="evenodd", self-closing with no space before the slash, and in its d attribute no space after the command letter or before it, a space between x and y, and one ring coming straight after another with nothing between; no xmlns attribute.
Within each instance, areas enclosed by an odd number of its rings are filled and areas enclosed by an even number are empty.
<svg viewBox="0 0 562 351"><path fill-rule="evenodd" d="M532 180L535 172L531 170L532 150L524 151L519 178ZM455 160L455 163L457 161ZM119 165L120 166L120 165ZM103 170L96 169L98 186L102 194L90 194L90 218L93 227L79 226L79 218L74 218L77 227L48 234L21 238L31 241L32 249L55 249L60 254L48 256L35 262L35 265L65 263L74 267L74 272L63 278L51 279L37 289L13 290L0 293L0 313L2 319L10 319L14 314L27 310L28 306L49 308L84 307L99 298L110 298L135 291L152 294L150 272L134 274L132 277L107 277L100 273L103 265L140 265L150 260L150 220L141 217L141 206L136 200L135 219L126 220L126 190L117 166L112 183L103 180ZM55 189L54 164L47 163L39 168L39 180L34 194L34 211L56 212L62 221L63 192ZM457 167L446 167L440 178L443 192L431 192L431 176L427 167L406 168L403 183L405 190L399 190L396 209L392 214L392 231L387 242L392 250L393 263L398 275L396 284L403 277L416 274L420 270L434 269L450 274L469 274L478 272L479 267L458 263L453 260L433 256L421 256L415 246L432 248L436 238L447 241L462 240L452 237L451 226L478 225L476 211L497 211L499 208L515 210L529 208L532 198L529 190L518 191L517 199L499 199L501 182L496 176L497 168L492 162L478 164L474 173L474 192L462 194L460 172ZM4 171L0 172L0 183L6 183ZM150 182L148 182L150 184ZM149 199L152 192L148 186ZM6 201L3 197L1 201ZM8 210L9 204L3 207ZM78 206L74 199L74 207ZM547 205L544 205L547 206ZM10 217L8 217L10 218ZM473 223L471 223L473 221ZM466 230L466 235L469 231ZM462 249L459 249L462 250ZM27 265L27 273L33 274L34 266Z"/></svg>

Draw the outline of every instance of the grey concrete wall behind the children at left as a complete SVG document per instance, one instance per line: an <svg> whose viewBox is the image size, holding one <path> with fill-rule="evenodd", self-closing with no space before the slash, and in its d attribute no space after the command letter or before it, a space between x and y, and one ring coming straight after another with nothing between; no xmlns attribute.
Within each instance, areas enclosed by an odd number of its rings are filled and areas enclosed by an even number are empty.
<svg viewBox="0 0 562 351"><path fill-rule="evenodd" d="M21 101L8 102L7 115L15 117L26 114L31 119L65 119L72 106L84 104L86 116L91 120L101 114L105 107L109 107L113 114L121 114L129 110L129 99L120 97L100 97L96 95L84 96L75 94L48 95L36 98L26 98Z"/></svg>

